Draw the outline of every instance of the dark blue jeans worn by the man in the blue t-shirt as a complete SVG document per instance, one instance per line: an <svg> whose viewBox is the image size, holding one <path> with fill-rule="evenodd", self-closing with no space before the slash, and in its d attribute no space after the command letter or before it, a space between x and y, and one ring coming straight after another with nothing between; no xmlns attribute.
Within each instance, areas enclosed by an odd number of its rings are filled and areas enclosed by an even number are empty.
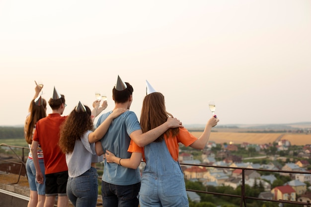
<svg viewBox="0 0 311 207"><path fill-rule="evenodd" d="M101 181L103 207L138 207L141 183L118 186Z"/></svg>

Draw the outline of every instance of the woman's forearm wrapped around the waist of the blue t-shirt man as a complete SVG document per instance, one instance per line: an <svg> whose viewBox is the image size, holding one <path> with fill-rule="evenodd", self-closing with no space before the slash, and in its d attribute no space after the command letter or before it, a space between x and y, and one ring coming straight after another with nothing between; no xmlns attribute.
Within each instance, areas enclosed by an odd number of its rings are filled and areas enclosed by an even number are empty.
<svg viewBox="0 0 311 207"><path fill-rule="evenodd" d="M141 152L132 152L130 158L123 159L116 157L112 152L106 149L106 160L109 163L116 163L123 167L136 169L141 164L143 154Z"/></svg>

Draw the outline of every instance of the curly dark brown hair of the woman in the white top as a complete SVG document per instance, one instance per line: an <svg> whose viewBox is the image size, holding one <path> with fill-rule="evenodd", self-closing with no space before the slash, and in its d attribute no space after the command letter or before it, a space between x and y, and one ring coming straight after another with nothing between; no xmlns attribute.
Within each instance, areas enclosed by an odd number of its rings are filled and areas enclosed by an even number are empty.
<svg viewBox="0 0 311 207"><path fill-rule="evenodd" d="M76 107L61 125L58 145L64 153L74 151L76 140L81 139L87 130L93 130L91 110L85 106L86 112L77 112Z"/></svg>

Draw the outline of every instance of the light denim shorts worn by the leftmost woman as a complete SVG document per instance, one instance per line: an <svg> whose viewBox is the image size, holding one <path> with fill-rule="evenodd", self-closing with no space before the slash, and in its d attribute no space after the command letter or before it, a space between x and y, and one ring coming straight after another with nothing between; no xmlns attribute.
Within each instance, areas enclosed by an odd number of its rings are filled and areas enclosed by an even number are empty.
<svg viewBox="0 0 311 207"><path fill-rule="evenodd" d="M44 168L44 161L43 159L39 159L39 166L41 169L41 172L43 174L43 184L40 184L37 182L36 179L36 168L33 164L33 159L29 158L26 161L26 172L28 177L28 183L29 183L29 189L31 191L37 191L38 195L45 195L45 168Z"/></svg>

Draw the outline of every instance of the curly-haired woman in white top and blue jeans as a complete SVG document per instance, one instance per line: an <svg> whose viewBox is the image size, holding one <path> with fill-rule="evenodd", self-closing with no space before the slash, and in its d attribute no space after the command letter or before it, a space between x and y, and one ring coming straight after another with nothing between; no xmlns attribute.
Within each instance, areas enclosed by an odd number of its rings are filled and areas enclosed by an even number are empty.
<svg viewBox="0 0 311 207"><path fill-rule="evenodd" d="M94 142L107 132L111 122L123 112L118 108L94 131L92 114L96 108L78 103L61 126L59 146L66 153L68 165L67 196L75 207L96 207L98 195L97 171L91 166L96 155ZM96 155L97 156L97 155Z"/></svg>

